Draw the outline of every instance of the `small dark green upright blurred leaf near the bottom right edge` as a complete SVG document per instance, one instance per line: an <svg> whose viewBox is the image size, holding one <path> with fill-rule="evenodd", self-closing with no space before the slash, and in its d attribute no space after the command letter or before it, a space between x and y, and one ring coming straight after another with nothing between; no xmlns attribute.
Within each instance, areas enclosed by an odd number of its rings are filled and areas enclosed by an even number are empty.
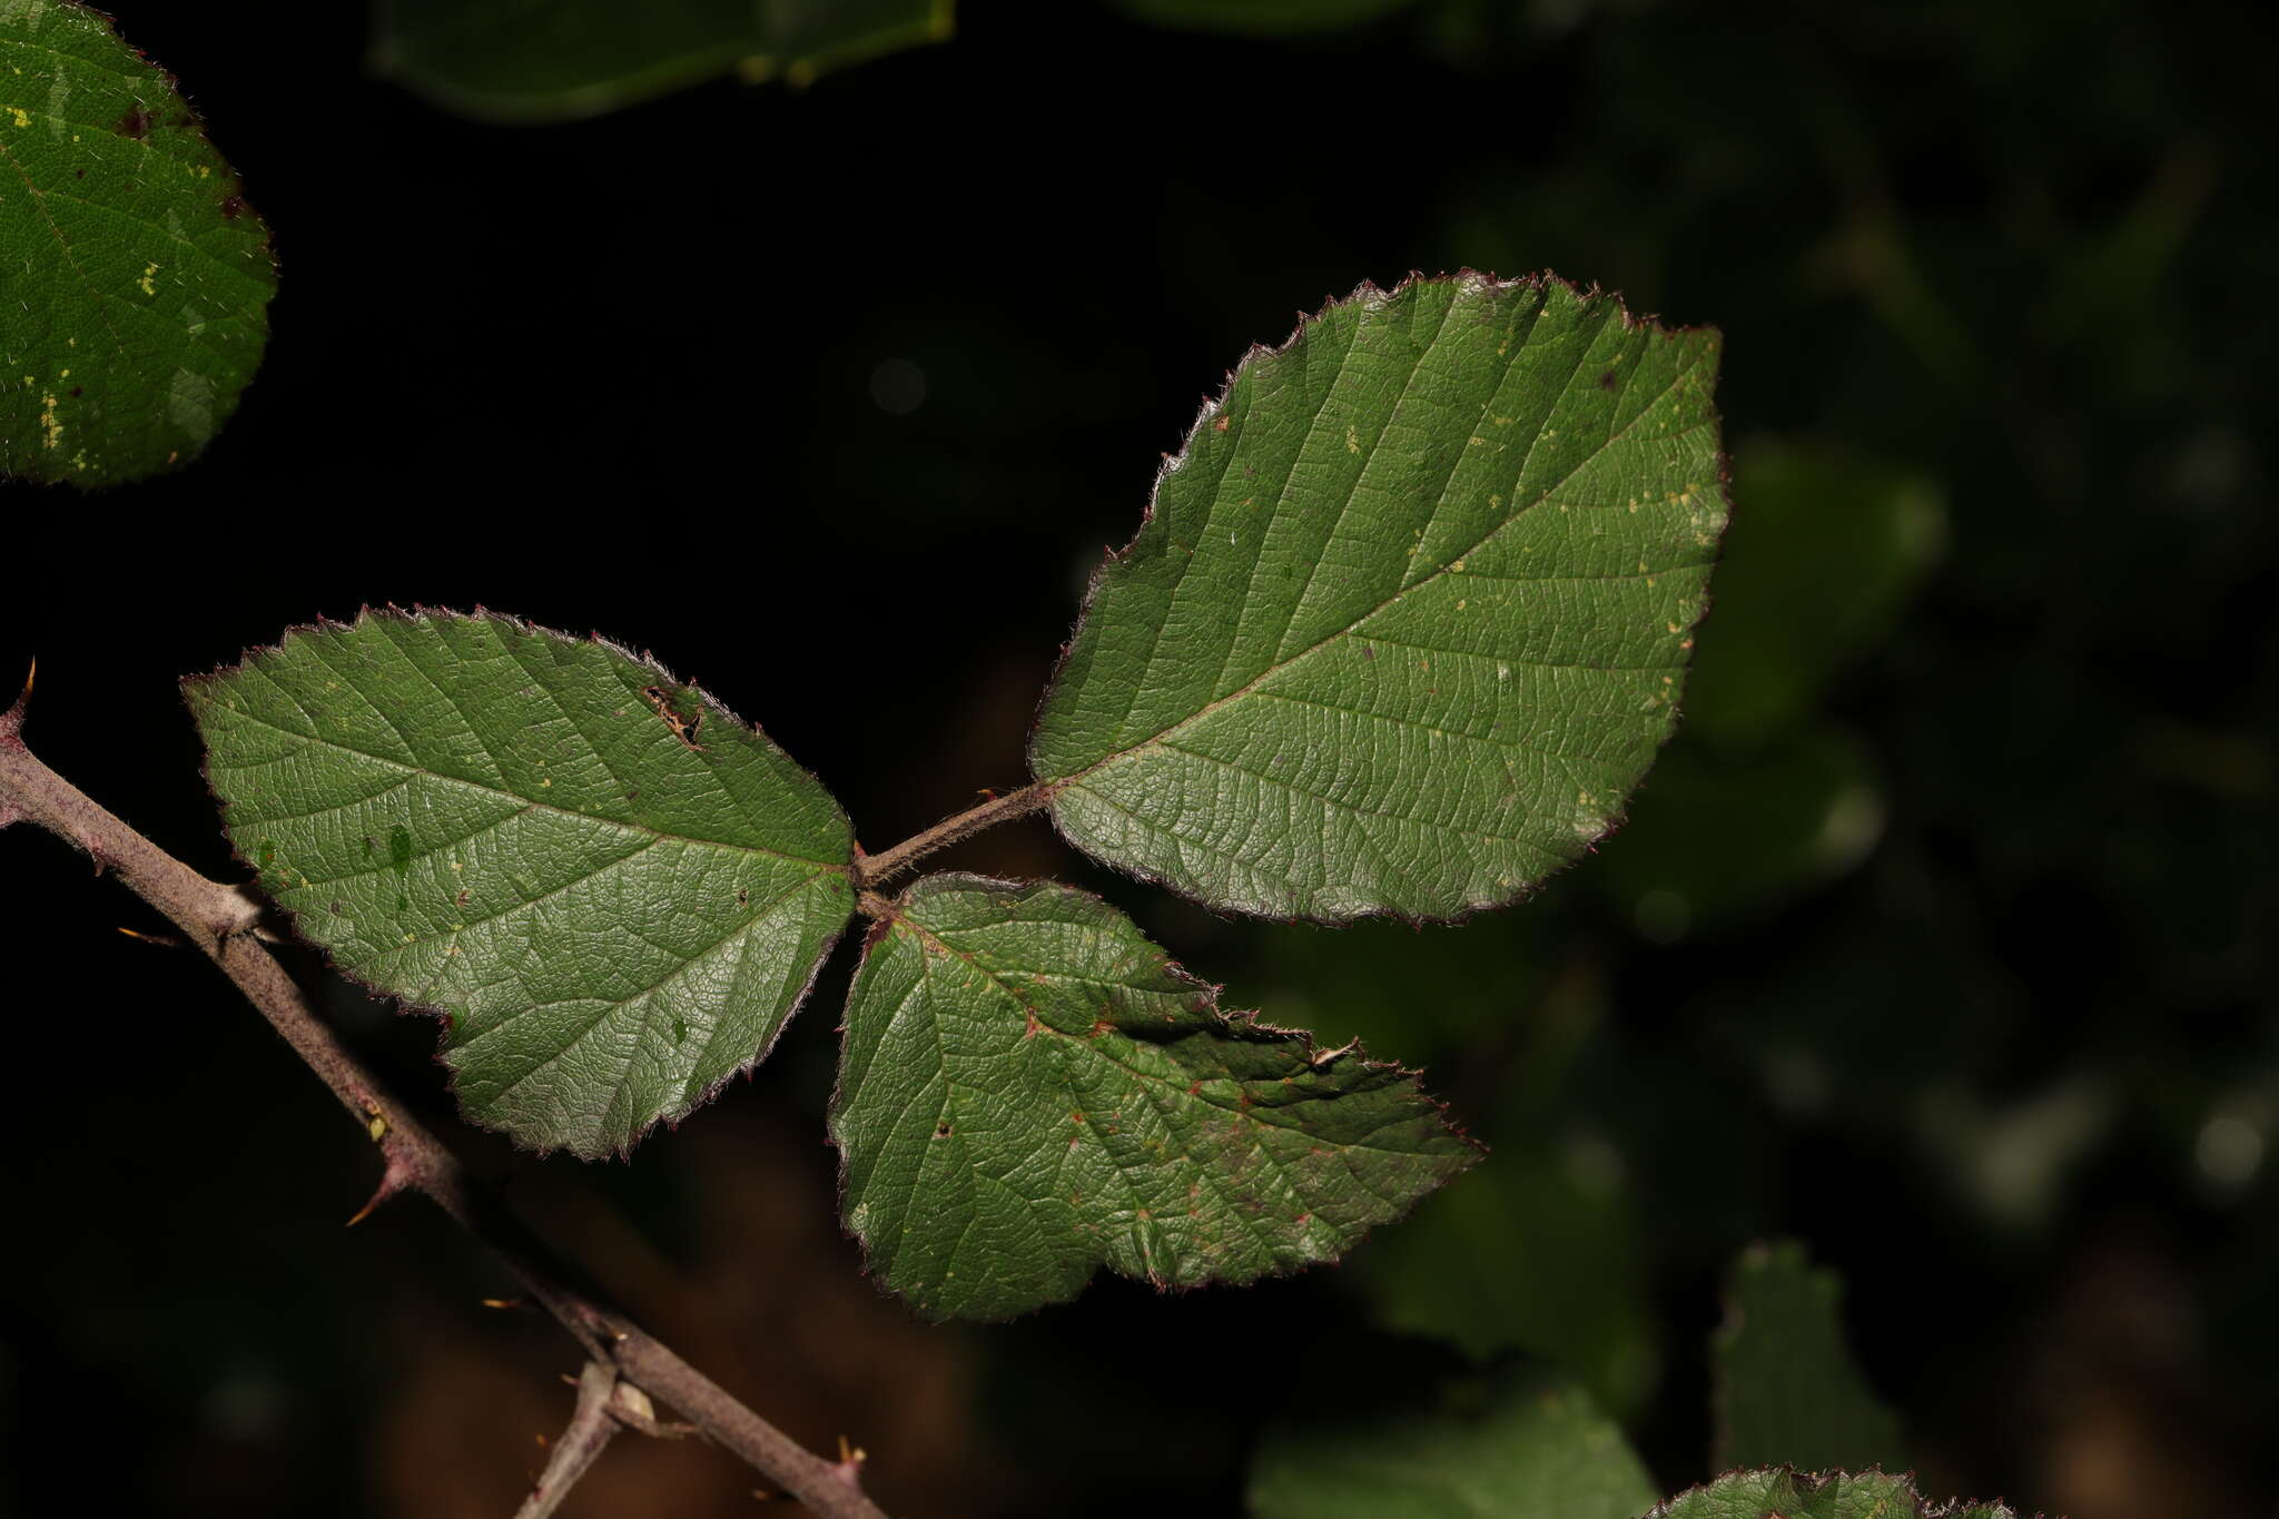
<svg viewBox="0 0 2279 1519"><path fill-rule="evenodd" d="M1716 1464L1905 1467L1898 1419L1844 1337L1844 1284L1789 1241L1750 1246L1716 1332Z"/></svg>

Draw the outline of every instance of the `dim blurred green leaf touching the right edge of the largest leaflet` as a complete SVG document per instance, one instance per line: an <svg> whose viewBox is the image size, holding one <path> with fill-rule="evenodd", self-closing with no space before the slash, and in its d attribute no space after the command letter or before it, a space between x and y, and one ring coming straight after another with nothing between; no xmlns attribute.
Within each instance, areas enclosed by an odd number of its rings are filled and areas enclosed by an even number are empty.
<svg viewBox="0 0 2279 1519"><path fill-rule="evenodd" d="M1734 449L1716 615L1686 681L1686 733L1753 745L1805 713L1892 629L1939 553L1935 483L1848 449L1762 437Z"/></svg>

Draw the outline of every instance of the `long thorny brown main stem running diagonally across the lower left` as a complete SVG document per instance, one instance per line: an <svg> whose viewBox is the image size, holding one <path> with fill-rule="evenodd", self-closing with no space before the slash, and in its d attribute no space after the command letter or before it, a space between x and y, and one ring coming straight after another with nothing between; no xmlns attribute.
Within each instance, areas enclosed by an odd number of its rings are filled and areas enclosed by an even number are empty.
<svg viewBox="0 0 2279 1519"><path fill-rule="evenodd" d="M570 1287L570 1271L554 1262L490 1189L476 1187L458 1157L349 1054L330 1025L317 1018L294 979L251 931L260 915L258 902L235 886L205 879L39 763L21 738L23 713L23 697L0 713L0 827L30 820L87 849L96 870L112 870L237 982L387 1159L365 1212L399 1191L424 1191L522 1284L524 1294L561 1321L593 1362L613 1369L615 1378L659 1403L677 1407L713 1442L798 1496L809 1512L823 1519L887 1519L864 1496L855 1462L814 1455L643 1332L638 1323Z"/></svg>

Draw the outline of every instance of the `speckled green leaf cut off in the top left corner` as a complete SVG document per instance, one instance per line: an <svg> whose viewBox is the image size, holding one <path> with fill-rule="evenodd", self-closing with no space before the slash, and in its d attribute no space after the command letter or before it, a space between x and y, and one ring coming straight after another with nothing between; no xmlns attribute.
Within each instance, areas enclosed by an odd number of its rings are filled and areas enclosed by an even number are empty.
<svg viewBox="0 0 2279 1519"><path fill-rule="evenodd" d="M198 453L269 339L269 230L166 71L0 0L0 469L103 485Z"/></svg>

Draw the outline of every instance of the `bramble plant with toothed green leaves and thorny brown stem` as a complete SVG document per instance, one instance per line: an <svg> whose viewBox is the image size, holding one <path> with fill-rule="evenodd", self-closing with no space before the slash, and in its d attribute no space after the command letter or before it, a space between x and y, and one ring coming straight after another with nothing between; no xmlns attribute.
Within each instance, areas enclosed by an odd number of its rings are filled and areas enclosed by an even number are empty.
<svg viewBox="0 0 2279 1519"><path fill-rule="evenodd" d="M586 25L577 7L554 18ZM403 5L392 25L410 66L460 23ZM597 59L615 48L590 41ZM757 43L659 48L668 61L613 82L588 77L593 59L565 82L506 57L490 82L428 84L567 116ZM260 358L267 230L173 82L93 11L0 7L0 64L25 102L0 105L25 187L0 203L0 248L48 292L0 310L21 378L5 465L66 483L180 465ZM1201 1287L1335 1262L1479 1161L1418 1073L1222 1007L1073 886L916 868L1044 813L1087 856L1222 913L1424 922L1518 902L1616 827L1675 724L1727 515L1716 362L1716 332L1550 276L1411 278L1326 305L1242 358L1092 576L1028 783L887 849L647 654L481 608L317 622L185 681L251 888L198 877L46 770L21 738L30 683L0 715L0 824L62 834L164 911L367 1125L374 1202L426 1191L579 1339L579 1412L524 1512L552 1512L618 1428L661 1432L654 1396L814 1512L875 1514L855 1455L793 1446L567 1287L317 1020L264 947L267 906L440 1018L469 1120L583 1159L681 1123L763 1059L859 925L830 1107L843 1223L925 1319L1012 1319L1101 1266ZM1655 1514L1964 1512L1837 1471L1901 1455L1830 1278L1753 1255L1734 1303L1721 1451L1773 1464ZM1657 1499L1557 1378L1495 1373L1445 1407L1333 1430L1267 1442L1256 1514L1493 1501L1623 1519ZM1454 1467L1475 1496L1436 1487Z"/></svg>

